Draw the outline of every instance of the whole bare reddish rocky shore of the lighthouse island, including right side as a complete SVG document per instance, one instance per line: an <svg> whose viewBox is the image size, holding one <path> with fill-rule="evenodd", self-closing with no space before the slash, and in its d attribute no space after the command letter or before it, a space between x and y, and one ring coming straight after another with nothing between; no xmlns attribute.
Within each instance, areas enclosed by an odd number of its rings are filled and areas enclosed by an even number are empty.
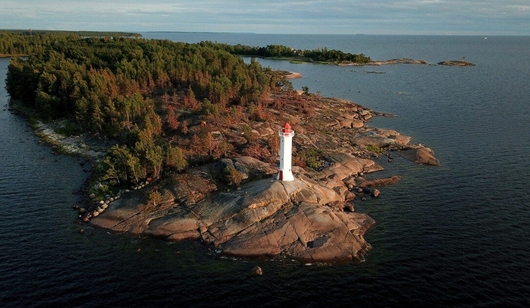
<svg viewBox="0 0 530 308"><path fill-rule="evenodd" d="M293 166L295 180L281 182L275 179L276 161L219 159L184 174L149 178L102 199L92 195L78 209L80 219L135 236L199 240L225 256L326 264L363 261L370 249L363 235L374 221L357 213L354 202L384 195L374 187L400 180L397 175L366 179L366 174L383 169L373 158L386 155L392 161L390 151L397 151L418 164L439 161L432 150L411 144L410 137L366 125L372 116L385 114L339 98L292 95L271 97L284 102L282 111L270 110L277 120L249 125L264 139L277 138L283 121L294 123L297 153L319 149L320 167ZM295 116L296 108L306 113ZM200 121L191 124L199 126ZM216 135L244 144L233 129L221 128ZM226 169L241 175L237 189L224 181ZM156 201L153 192L160 193Z"/></svg>

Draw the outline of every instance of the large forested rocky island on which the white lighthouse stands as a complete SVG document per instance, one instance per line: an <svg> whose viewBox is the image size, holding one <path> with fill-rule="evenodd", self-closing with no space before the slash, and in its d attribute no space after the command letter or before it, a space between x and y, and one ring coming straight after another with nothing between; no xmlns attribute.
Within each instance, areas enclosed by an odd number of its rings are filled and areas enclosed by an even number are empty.
<svg viewBox="0 0 530 308"><path fill-rule="evenodd" d="M396 152L439 165L411 137L368 126L387 114L296 91L284 72L225 50L234 46L7 38L32 42L8 67L13 102L42 138L94 162L79 223L199 240L227 256L358 262L374 221L355 203L400 180L367 179L383 169L376 160ZM290 181L277 179L286 122L296 132Z"/></svg>

